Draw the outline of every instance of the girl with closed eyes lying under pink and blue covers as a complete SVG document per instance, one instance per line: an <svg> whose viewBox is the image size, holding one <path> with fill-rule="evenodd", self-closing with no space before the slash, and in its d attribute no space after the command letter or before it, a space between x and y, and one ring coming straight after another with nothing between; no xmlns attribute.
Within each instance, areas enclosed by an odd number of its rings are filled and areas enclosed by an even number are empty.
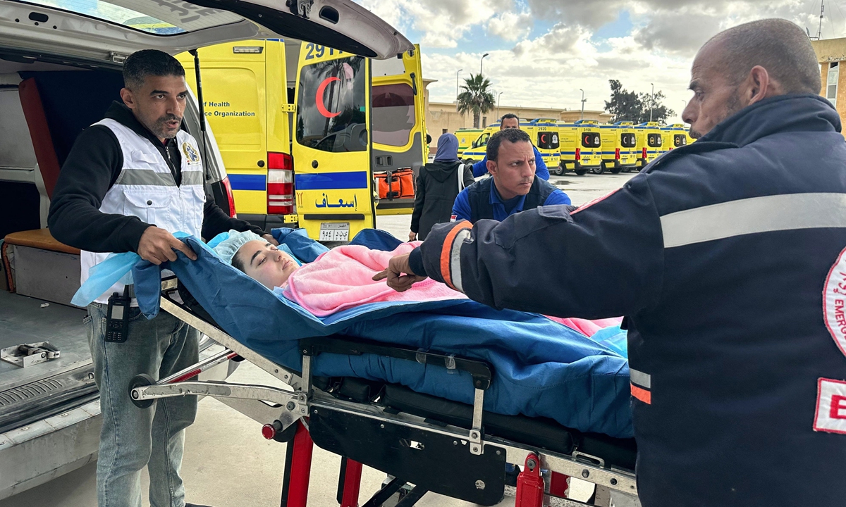
<svg viewBox="0 0 846 507"><path fill-rule="evenodd" d="M483 359L494 367L486 410L551 417L568 428L630 436L629 368L620 319L559 319L496 310L431 279L396 292L372 277L394 255L408 253L420 242L391 239L397 243L391 243L390 251L349 244L302 264L284 243L277 247L251 232L232 231L213 247L215 253L275 297L265 297L271 295L256 290L258 286L219 291L213 280L196 290L205 292L219 312L212 312L213 317L229 322L236 338L277 363L298 360L289 357L296 348L288 343L296 334L292 326L305 322L320 334L336 332ZM282 301L288 303L280 307ZM299 317L304 311L312 317ZM282 314L288 317L281 319ZM470 382L443 368L385 357L325 356L316 363L325 376L387 380L453 401L473 399Z"/></svg>

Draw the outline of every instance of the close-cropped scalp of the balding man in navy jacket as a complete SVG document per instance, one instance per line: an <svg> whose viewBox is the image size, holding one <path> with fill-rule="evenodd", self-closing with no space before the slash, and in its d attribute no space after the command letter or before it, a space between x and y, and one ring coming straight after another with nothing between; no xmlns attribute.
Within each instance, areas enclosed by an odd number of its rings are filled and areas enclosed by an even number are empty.
<svg viewBox="0 0 846 507"><path fill-rule="evenodd" d="M734 85L755 65L766 68L784 94L820 93L820 66L808 35L787 19L760 19L714 35L702 46L714 45L715 64Z"/></svg>

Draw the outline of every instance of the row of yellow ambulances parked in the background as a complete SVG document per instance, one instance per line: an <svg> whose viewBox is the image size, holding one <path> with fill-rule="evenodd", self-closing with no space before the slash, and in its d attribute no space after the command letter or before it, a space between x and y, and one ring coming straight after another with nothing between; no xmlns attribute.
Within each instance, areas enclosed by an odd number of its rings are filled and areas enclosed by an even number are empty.
<svg viewBox="0 0 846 507"><path fill-rule="evenodd" d="M661 125L646 122L613 124L596 120L567 123L554 119L534 119L520 123L552 174L640 171L658 155L694 141L684 123ZM465 162L485 157L487 140L499 130L499 123L484 129L459 129L459 155Z"/></svg>

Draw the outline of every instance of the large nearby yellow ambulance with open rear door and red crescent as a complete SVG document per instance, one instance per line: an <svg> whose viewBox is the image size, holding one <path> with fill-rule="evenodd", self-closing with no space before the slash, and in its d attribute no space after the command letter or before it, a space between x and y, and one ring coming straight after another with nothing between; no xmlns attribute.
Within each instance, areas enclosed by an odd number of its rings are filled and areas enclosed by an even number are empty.
<svg viewBox="0 0 846 507"><path fill-rule="evenodd" d="M377 212L413 210L413 189L378 199L376 178L426 161L419 46L371 60L268 39L204 47L198 57L240 218L347 241L376 226ZM195 88L194 57L178 58Z"/></svg>

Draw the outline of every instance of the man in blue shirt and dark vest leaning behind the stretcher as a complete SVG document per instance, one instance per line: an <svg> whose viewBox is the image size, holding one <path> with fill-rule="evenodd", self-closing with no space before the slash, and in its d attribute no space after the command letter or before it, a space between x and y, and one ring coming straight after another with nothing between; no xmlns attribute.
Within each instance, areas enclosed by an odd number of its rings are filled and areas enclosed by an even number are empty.
<svg viewBox="0 0 846 507"><path fill-rule="evenodd" d="M567 194L536 176L538 159L533 148L529 134L522 130L508 128L493 134L485 155L491 177L461 191L453 204L452 220L503 221L538 206L570 204Z"/></svg>

